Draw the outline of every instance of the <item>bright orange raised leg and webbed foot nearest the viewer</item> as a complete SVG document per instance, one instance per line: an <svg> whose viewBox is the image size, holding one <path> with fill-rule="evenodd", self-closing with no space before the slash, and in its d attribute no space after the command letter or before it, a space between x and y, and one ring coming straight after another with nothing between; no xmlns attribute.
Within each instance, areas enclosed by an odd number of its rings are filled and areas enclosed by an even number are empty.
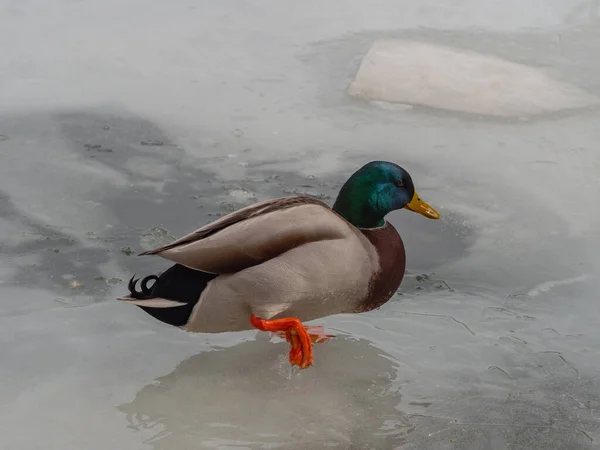
<svg viewBox="0 0 600 450"><path fill-rule="evenodd" d="M312 352L312 343L306 328L300 320L290 317L285 319L265 320L250 316L250 323L261 331L282 331L292 346L290 350L290 362L299 366L301 369L310 367L314 361Z"/></svg>

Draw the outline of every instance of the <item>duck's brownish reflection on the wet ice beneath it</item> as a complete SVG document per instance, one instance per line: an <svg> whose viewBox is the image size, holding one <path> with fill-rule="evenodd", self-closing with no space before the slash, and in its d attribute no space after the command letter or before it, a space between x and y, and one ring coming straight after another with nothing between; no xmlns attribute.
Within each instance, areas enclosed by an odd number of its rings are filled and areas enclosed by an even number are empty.
<svg viewBox="0 0 600 450"><path fill-rule="evenodd" d="M393 448L410 426L390 355L343 335L315 346L320 364L289 376L286 344L256 341L183 361L119 406L152 448ZM367 447L363 447L367 446Z"/></svg>

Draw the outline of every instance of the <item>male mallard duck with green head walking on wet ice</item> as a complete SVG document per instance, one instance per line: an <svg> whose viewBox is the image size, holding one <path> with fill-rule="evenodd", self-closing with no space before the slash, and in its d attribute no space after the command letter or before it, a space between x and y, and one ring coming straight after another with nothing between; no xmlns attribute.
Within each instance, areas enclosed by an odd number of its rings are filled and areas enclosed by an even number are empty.
<svg viewBox="0 0 600 450"><path fill-rule="evenodd" d="M370 311L400 286L404 244L384 219L400 208L440 217L408 172L373 161L346 181L333 208L303 195L267 200L140 253L175 264L145 277L141 291L132 278L119 300L191 332L283 333L290 362L306 368L313 353L302 321Z"/></svg>

